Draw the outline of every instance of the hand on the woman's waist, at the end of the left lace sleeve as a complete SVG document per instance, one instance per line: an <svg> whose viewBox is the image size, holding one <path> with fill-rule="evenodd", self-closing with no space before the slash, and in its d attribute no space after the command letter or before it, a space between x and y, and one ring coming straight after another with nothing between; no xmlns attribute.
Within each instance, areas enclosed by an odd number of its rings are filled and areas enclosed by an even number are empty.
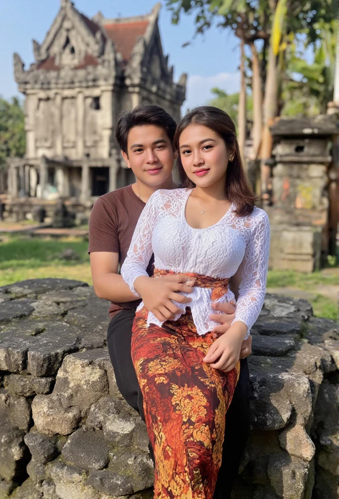
<svg viewBox="0 0 339 499"><path fill-rule="evenodd" d="M162 277L147 277L141 275L134 281L134 288L143 299L145 307L150 310L161 322L171 320L182 310L171 300L183 303L192 301L188 296L179 293L191 293L194 279L187 281L186 275L163 275Z"/></svg>

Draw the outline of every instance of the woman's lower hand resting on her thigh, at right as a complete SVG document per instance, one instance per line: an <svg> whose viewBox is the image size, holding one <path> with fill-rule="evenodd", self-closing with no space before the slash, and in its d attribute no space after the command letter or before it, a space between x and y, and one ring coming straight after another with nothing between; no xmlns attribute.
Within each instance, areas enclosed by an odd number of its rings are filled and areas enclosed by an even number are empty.
<svg viewBox="0 0 339 499"><path fill-rule="evenodd" d="M211 367L220 371L231 371L240 358L246 332L247 325L244 322L234 322L226 334L219 336L212 343L203 362L207 362Z"/></svg>

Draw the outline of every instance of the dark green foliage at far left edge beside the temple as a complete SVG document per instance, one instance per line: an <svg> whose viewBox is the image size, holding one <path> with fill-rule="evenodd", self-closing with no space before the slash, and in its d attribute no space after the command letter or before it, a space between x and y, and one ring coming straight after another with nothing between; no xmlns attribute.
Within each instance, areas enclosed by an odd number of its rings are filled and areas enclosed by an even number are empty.
<svg viewBox="0 0 339 499"><path fill-rule="evenodd" d="M26 139L24 111L20 101L13 97L10 102L0 98L0 169L6 158L25 154Z"/></svg>

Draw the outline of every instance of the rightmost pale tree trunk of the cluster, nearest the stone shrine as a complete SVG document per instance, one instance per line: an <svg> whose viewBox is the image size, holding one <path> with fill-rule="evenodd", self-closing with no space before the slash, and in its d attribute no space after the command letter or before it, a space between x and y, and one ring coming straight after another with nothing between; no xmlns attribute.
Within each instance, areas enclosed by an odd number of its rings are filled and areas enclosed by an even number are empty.
<svg viewBox="0 0 339 499"><path fill-rule="evenodd" d="M271 158L273 147L273 138L269 127L270 125L272 125L278 111L278 66L277 56L273 53L272 43L270 44L269 48L263 110L264 129L260 149L261 195L263 199L267 201L269 198L267 190L271 169L266 165L266 161Z"/></svg>

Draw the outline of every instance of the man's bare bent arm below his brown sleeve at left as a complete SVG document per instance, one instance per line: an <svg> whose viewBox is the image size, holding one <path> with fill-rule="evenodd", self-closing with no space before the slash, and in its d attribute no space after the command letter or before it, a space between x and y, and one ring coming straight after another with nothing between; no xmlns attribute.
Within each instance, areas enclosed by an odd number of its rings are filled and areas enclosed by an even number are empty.
<svg viewBox="0 0 339 499"><path fill-rule="evenodd" d="M134 301L138 298L128 284L118 274L119 253L111 251L92 251L90 253L91 271L95 294L116 303Z"/></svg>

